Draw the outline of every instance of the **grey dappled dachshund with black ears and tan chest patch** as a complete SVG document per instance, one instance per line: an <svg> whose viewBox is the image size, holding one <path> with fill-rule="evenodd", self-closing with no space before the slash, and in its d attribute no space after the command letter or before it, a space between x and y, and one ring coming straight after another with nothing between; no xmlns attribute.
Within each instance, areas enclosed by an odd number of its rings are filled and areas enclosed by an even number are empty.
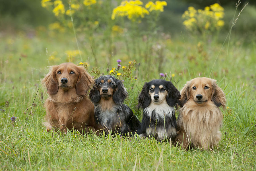
<svg viewBox="0 0 256 171"><path fill-rule="evenodd" d="M94 103L94 117L99 129L104 133L135 131L140 121L123 101L128 93L123 83L113 76L100 76L90 91L90 100Z"/></svg>

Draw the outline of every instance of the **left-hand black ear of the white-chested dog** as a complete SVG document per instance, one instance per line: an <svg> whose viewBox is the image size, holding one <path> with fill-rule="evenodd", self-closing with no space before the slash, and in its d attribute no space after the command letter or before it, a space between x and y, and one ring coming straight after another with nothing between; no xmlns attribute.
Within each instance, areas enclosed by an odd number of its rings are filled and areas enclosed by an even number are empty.
<svg viewBox="0 0 256 171"><path fill-rule="evenodd" d="M141 93L139 94L138 97L138 105L137 108L140 109L142 107L143 109L148 107L148 105L151 102L151 97L149 95L149 85L148 83L145 83L144 86L142 87Z"/></svg>

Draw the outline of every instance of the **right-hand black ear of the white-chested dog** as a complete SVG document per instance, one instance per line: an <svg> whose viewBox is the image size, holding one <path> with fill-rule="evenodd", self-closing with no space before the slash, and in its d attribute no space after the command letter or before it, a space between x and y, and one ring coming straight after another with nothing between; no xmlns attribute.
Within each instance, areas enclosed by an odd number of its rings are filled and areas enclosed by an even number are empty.
<svg viewBox="0 0 256 171"><path fill-rule="evenodd" d="M169 106L174 106L177 109L178 106L181 106L181 95L179 90L172 84L172 82L168 81L167 84L168 94L166 96L166 102Z"/></svg>

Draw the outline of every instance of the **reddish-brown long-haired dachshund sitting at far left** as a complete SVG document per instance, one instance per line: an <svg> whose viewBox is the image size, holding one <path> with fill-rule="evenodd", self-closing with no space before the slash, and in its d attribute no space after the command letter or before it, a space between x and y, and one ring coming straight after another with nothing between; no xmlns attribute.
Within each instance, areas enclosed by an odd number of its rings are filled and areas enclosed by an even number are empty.
<svg viewBox="0 0 256 171"><path fill-rule="evenodd" d="M46 130L59 129L61 133L77 130L80 133L95 131L94 106L87 92L94 79L82 66L63 63L52 66L42 79L49 97L46 108Z"/></svg>

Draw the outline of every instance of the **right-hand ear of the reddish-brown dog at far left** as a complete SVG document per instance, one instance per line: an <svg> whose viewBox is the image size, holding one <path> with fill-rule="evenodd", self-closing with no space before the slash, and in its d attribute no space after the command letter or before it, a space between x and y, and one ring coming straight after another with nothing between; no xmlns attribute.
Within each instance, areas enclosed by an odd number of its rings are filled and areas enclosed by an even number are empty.
<svg viewBox="0 0 256 171"><path fill-rule="evenodd" d="M88 90L94 84L92 76L84 69L83 66L77 66L79 70L79 77L76 84L76 91L78 95L86 95Z"/></svg>

